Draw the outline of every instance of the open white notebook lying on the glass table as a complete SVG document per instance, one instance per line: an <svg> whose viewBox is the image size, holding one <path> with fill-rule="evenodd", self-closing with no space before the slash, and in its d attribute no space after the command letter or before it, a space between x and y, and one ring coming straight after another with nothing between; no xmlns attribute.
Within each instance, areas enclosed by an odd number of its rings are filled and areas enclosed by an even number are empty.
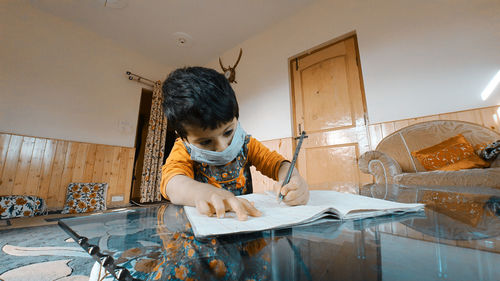
<svg viewBox="0 0 500 281"><path fill-rule="evenodd" d="M287 206L279 204L275 196L253 193L240 197L254 202L262 212L260 217L248 217L239 221L234 213L226 213L224 218L207 217L196 208L185 206L186 215L197 238L246 233L268 229L285 228L292 225L310 223L320 218L333 216L339 220L376 217L391 213L416 212L423 204L405 204L361 195L336 191L313 190L307 205Z"/></svg>

